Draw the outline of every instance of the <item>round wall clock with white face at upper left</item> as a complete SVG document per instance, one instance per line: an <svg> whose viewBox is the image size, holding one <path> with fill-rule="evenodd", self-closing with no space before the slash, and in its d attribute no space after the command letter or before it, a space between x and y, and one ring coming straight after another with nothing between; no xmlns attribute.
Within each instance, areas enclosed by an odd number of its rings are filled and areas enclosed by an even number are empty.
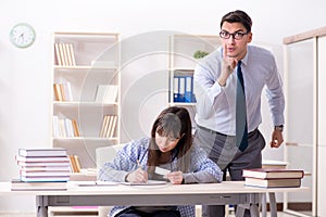
<svg viewBox="0 0 326 217"><path fill-rule="evenodd" d="M17 24L10 31L10 40L17 48L27 48L35 41L35 30L29 24Z"/></svg>

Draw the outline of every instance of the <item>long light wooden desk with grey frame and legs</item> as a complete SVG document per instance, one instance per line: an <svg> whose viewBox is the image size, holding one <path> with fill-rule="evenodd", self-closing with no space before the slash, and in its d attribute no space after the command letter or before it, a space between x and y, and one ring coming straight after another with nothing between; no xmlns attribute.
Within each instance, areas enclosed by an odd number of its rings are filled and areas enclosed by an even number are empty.
<svg viewBox="0 0 326 217"><path fill-rule="evenodd" d="M37 216L47 217L48 206L108 206L108 205L185 205L185 204L239 204L237 216L243 207L252 217L259 217L258 204L263 194L292 192L308 188L262 189L244 187L243 181L223 183L166 184L166 186L109 186L68 187L66 191L11 191L10 182L0 182L0 195L35 195ZM272 203L275 203L275 201ZM276 208L272 206L272 208ZM272 217L276 217L276 209Z"/></svg>

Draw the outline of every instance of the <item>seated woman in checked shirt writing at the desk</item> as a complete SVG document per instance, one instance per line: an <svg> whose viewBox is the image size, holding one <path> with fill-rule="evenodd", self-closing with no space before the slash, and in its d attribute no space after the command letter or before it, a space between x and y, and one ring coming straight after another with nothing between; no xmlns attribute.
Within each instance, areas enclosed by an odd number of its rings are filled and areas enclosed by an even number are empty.
<svg viewBox="0 0 326 217"><path fill-rule="evenodd" d="M170 170L166 176L156 168ZM173 184L221 182L222 170L203 150L192 144L191 120L184 107L171 106L155 119L151 138L127 143L112 162L99 170L98 179L146 182L167 180ZM110 216L195 216L195 206L115 206Z"/></svg>

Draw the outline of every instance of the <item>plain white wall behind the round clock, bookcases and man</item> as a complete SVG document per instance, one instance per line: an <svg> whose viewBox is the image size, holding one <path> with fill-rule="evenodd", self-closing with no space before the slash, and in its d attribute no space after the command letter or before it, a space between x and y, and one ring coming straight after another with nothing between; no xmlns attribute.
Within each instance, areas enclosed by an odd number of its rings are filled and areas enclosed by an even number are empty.
<svg viewBox="0 0 326 217"><path fill-rule="evenodd" d="M323 0L1 0L0 180L17 176L14 156L18 148L50 145L53 31L121 33L123 39L153 30L215 35L220 31L222 15L241 9L253 18L254 41L268 42L278 50L284 37L324 26L325 8ZM28 49L14 48L9 41L9 31L18 22L27 22L36 29L36 42ZM283 65L283 54L277 54ZM137 65L141 73L131 69L123 74L125 90L139 79L138 75L145 76L158 69L149 61L131 64ZM146 122L151 124L150 117L159 113L152 112L141 126L148 126ZM264 117L267 125L268 118ZM145 127L143 130L148 129ZM267 148L266 156L281 159L283 152ZM34 199L24 199L0 197L0 209L34 210Z"/></svg>

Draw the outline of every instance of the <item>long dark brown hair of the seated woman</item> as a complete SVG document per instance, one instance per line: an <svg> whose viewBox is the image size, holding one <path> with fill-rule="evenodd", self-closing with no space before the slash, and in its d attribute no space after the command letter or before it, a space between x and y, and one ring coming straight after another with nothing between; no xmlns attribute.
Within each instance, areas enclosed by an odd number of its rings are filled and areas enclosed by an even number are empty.
<svg viewBox="0 0 326 217"><path fill-rule="evenodd" d="M192 145L191 119L187 108L178 106L167 107L155 119L151 130L148 152L148 173L153 173L155 166L160 165L162 152L155 142L156 132L162 137L179 139L173 152L176 153L177 169L184 173L187 171L190 163L188 153Z"/></svg>

